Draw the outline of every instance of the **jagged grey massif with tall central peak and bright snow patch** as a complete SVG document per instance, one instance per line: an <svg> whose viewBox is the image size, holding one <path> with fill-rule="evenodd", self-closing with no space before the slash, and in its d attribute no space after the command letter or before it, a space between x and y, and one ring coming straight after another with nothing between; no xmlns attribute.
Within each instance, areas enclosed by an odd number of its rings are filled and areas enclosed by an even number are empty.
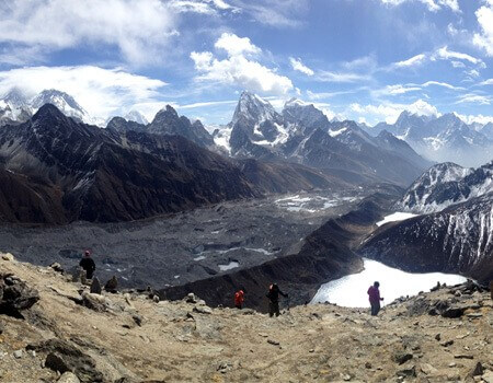
<svg viewBox="0 0 493 383"><path fill-rule="evenodd" d="M297 162L351 183L409 185L431 165L390 134L372 138L356 123L331 123L313 105L296 100L278 114L268 102L243 92L229 127L236 158Z"/></svg>

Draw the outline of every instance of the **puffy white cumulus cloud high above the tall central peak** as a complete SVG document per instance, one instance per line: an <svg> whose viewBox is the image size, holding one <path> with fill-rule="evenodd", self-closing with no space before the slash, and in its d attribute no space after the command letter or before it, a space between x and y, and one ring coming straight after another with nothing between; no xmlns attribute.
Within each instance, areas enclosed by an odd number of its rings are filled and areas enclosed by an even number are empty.
<svg viewBox="0 0 493 383"><path fill-rule="evenodd" d="M260 48L236 35L225 34L216 42L216 47L225 49L228 58L218 59L210 51L193 51L190 57L195 63L198 76L196 81L208 81L229 84L260 93L286 94L294 89L291 80L277 74L257 61L246 58L244 53L260 53ZM231 42L241 42L238 48Z"/></svg>

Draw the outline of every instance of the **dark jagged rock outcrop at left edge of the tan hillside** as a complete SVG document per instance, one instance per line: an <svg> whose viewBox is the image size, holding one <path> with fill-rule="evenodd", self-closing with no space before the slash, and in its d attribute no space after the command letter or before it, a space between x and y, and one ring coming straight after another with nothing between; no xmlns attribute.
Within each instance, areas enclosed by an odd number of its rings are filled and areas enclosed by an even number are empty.
<svg viewBox="0 0 493 383"><path fill-rule="evenodd" d="M31 309L39 300L37 290L12 274L0 274L0 314L22 318L22 311Z"/></svg>

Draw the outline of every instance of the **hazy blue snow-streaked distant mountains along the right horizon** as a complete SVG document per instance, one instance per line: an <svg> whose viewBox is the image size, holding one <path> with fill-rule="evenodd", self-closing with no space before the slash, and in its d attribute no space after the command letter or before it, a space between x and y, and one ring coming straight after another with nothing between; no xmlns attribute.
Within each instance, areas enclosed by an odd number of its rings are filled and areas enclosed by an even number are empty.
<svg viewBox="0 0 493 383"><path fill-rule="evenodd" d="M366 130L372 135L388 130L432 161L478 166L493 158L493 124L467 125L454 113L421 116L404 111L395 124L380 123Z"/></svg>

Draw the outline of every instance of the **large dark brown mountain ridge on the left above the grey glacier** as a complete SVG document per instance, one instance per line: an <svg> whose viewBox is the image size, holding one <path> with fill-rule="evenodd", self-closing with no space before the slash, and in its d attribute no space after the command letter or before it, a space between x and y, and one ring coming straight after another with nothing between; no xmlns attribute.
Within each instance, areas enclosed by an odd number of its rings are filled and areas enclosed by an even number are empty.
<svg viewBox="0 0 493 383"><path fill-rule="evenodd" d="M49 104L2 129L0 159L15 173L0 170L0 217L13 222L135 220L260 195L230 161L182 137L118 135Z"/></svg>

